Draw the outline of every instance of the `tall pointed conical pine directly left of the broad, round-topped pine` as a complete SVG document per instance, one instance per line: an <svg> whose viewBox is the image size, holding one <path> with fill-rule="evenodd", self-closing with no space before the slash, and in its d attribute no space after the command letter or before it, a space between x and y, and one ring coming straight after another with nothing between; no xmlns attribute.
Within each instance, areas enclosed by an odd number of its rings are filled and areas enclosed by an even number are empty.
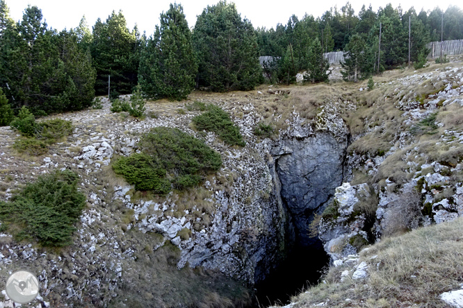
<svg viewBox="0 0 463 308"><path fill-rule="evenodd" d="M152 99L186 99L195 87L197 63L181 5L170 4L140 58L138 79Z"/></svg>

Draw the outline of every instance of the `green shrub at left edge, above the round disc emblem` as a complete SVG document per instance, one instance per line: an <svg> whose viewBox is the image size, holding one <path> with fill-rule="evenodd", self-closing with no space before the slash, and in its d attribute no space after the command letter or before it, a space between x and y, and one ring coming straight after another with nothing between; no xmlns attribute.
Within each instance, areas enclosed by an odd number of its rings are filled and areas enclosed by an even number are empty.
<svg viewBox="0 0 463 308"><path fill-rule="evenodd" d="M19 241L34 239L42 246L69 245L73 225L86 205L86 197L77 190L78 182L79 176L68 170L40 176L10 202L0 202L1 228Z"/></svg>

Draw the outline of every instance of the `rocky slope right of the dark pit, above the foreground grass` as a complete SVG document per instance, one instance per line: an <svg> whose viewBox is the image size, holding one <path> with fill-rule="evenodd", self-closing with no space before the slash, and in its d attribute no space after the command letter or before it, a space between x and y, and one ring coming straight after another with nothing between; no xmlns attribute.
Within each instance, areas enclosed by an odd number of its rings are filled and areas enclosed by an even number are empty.
<svg viewBox="0 0 463 308"><path fill-rule="evenodd" d="M391 96L396 99L393 108L401 112L400 121L389 151L359 154L354 147L347 157L350 170L368 174L368 184L351 186L347 181L352 176L346 177L336 188L331 213L325 212L320 220L319 237L332 260L346 258L384 235L462 216L463 133L452 114L463 105L462 83L463 69L455 65L377 85L395 88ZM414 93L417 85L424 85L425 94ZM434 89L425 89L429 85ZM373 133L370 129L353 139ZM423 135L433 135L432 140Z"/></svg>

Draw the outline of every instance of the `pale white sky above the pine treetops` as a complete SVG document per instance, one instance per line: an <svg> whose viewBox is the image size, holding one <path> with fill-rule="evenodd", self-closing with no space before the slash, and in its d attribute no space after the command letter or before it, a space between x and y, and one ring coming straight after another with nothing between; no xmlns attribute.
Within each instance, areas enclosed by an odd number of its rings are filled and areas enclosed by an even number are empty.
<svg viewBox="0 0 463 308"><path fill-rule="evenodd" d="M171 0L6 0L10 8L10 16L15 21L22 19L24 9L31 4L31 6L38 6L42 10L42 14L47 21L48 26L61 30L63 28L75 28L79 25L81 17L86 15L90 31L92 26L100 17L101 20L106 20L108 15L113 10L118 12L122 10L127 19L127 26L133 28L138 24L141 33L146 31L147 35L154 32L154 26L159 24L159 15L161 12L169 9ZM202 10L207 5L213 5L218 0L184 0L178 1L184 7L188 26L195 25L196 16L200 15ZM347 1L340 0L268 0L268 1L254 1L254 0L236 0L238 12L241 17L247 17L252 22L254 28L265 26L266 28L275 28L280 24L286 24L291 15L295 14L302 18L307 12L309 15L319 17L326 10L337 6L340 9L346 4ZM434 7L439 6L441 9L446 10L450 4L459 5L460 1L456 0L439 0L439 1L416 1L416 0L381 0L371 1L374 4L373 10L377 10L380 6L384 7L387 3L392 3L396 8L399 4L403 10L408 10L414 6L415 10L419 12L421 8L425 10L432 10ZM359 12L362 5L369 6L368 0L351 0L350 3L355 9L355 14Z"/></svg>

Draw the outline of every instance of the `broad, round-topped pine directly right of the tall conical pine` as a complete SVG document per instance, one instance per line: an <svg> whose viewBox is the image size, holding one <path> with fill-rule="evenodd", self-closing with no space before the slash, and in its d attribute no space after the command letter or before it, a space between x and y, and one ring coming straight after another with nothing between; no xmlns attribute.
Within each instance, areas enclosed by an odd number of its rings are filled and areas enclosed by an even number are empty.
<svg viewBox="0 0 463 308"><path fill-rule="evenodd" d="M233 3L220 1L203 10L193 31L193 46L199 86L213 91L249 90L263 80L254 28L241 19Z"/></svg>

